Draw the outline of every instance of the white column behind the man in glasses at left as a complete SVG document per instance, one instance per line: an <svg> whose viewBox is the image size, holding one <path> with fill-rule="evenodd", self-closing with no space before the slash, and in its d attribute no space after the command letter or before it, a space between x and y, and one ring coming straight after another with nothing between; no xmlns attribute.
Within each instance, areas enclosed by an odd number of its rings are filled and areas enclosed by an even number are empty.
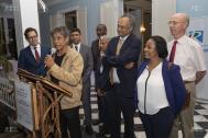
<svg viewBox="0 0 208 138"><path fill-rule="evenodd" d="M36 28L40 34L37 0L12 0L14 10L14 23L17 32L18 54L23 46L28 45L24 38L26 27Z"/></svg>

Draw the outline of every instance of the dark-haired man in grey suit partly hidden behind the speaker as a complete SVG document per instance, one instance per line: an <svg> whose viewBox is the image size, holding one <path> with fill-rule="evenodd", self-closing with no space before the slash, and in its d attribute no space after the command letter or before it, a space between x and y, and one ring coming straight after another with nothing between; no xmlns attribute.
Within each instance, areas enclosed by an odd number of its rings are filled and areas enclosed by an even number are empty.
<svg viewBox="0 0 208 138"><path fill-rule="evenodd" d="M79 28L73 28L70 31L72 47L80 53L84 59L84 71L83 71L83 106L85 120L84 126L88 135L92 135L91 128L91 107L90 107L90 74L94 68L91 48L80 43L81 32Z"/></svg>

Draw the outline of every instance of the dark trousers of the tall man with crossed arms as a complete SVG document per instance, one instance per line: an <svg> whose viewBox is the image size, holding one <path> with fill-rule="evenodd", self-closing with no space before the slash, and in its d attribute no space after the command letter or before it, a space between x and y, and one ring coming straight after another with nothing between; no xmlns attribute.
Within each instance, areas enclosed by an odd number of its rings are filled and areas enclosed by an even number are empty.
<svg viewBox="0 0 208 138"><path fill-rule="evenodd" d="M123 97L119 84L106 95L108 126L112 138L120 138L121 112L124 119L124 138L134 138L134 100L133 97Z"/></svg>

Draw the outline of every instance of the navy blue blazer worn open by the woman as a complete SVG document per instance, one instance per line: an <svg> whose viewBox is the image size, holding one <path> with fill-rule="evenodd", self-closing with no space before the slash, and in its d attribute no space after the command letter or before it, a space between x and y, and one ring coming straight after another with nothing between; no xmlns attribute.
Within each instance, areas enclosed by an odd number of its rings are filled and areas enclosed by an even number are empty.
<svg viewBox="0 0 208 138"><path fill-rule="evenodd" d="M146 68L147 64L149 60L141 64L141 66L138 69L138 78ZM165 85L165 92L166 92L167 101L174 114L179 113L182 106L184 105L185 96L186 96L186 88L179 70L180 70L179 66L173 65L169 68L168 61L166 59L163 60L162 76Z"/></svg>

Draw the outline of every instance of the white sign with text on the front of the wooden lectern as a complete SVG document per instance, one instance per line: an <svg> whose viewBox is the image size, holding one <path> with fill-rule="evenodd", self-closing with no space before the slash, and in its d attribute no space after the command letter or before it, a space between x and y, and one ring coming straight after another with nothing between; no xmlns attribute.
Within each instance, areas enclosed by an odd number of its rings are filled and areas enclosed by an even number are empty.
<svg viewBox="0 0 208 138"><path fill-rule="evenodd" d="M24 82L15 82L15 101L18 123L29 130L33 130L31 85Z"/></svg>

